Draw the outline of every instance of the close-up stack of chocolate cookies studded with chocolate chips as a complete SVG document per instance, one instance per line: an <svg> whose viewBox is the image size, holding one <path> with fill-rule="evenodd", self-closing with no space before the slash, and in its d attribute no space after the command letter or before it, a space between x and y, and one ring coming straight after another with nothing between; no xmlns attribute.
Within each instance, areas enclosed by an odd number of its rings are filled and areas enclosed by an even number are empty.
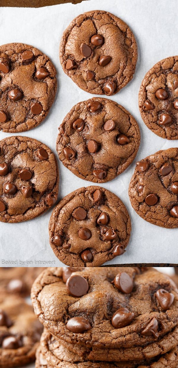
<svg viewBox="0 0 178 368"><path fill-rule="evenodd" d="M178 290L153 268L48 268L31 297L36 368L178 365Z"/></svg>

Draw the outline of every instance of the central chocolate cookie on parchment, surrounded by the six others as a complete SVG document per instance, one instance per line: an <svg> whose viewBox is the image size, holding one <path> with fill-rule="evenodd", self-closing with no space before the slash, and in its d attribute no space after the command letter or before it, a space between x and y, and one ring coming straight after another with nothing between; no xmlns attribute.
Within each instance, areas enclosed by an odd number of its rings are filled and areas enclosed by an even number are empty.
<svg viewBox="0 0 178 368"><path fill-rule="evenodd" d="M117 102L92 98L72 107L59 127L57 152L76 176L104 183L132 163L140 144L133 116Z"/></svg>

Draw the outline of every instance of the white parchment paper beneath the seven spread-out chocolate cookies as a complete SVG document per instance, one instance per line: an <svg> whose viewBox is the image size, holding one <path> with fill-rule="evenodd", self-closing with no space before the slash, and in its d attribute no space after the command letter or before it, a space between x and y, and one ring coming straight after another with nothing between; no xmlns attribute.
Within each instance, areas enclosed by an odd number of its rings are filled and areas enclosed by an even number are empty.
<svg viewBox="0 0 178 368"><path fill-rule="evenodd" d="M138 121L140 149L135 161L124 173L102 184L117 194L127 206L132 220L132 234L125 254L107 263L177 263L178 229L163 229L147 223L132 209L128 197L135 162L160 149L178 146L178 141L167 141L150 131L143 123L138 108L138 92L145 73L157 61L178 54L177 0L89 0L76 5L63 4L38 9L0 8L0 44L24 42L33 45L50 57L58 72L57 97L48 117L35 129L20 135L39 139L56 153L57 128L63 118L73 105L93 96L79 89L64 74L58 48L62 32L71 20L84 11L94 9L110 11L120 17L130 26L138 42L135 76L111 99L128 109ZM0 139L8 135L0 132ZM58 161L58 164L60 198L76 188L92 185L74 176L61 162ZM51 210L28 222L0 223L0 265L8 260L15 261L15 266L62 265L49 245L50 215Z"/></svg>

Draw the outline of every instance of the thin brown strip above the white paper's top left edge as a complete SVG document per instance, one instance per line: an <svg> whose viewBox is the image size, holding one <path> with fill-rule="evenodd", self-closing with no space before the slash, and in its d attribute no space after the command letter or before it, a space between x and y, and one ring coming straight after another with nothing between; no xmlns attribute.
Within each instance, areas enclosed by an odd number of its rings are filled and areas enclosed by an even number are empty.
<svg viewBox="0 0 178 368"><path fill-rule="evenodd" d="M81 3L82 0L0 0L0 6L39 8L48 5Z"/></svg>

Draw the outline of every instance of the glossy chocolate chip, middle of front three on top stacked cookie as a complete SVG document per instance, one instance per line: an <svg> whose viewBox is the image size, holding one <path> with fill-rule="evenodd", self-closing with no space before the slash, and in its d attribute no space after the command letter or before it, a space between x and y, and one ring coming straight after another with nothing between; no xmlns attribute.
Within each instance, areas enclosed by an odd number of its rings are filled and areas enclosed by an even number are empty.
<svg viewBox="0 0 178 368"><path fill-rule="evenodd" d="M114 328L122 328L130 325L133 318L133 312L130 312L127 308L120 308L113 314L111 323Z"/></svg>

